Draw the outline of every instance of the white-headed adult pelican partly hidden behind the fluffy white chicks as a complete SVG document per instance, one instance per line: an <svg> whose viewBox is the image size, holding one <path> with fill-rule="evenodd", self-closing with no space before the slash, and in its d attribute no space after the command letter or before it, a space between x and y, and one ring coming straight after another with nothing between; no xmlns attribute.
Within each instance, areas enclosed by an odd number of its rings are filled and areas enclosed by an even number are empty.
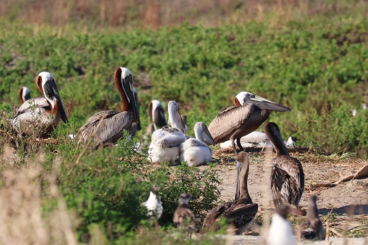
<svg viewBox="0 0 368 245"><path fill-rule="evenodd" d="M165 112L159 100L152 100L148 103L148 116L152 123L147 127L147 134L152 135L154 131L166 126Z"/></svg>

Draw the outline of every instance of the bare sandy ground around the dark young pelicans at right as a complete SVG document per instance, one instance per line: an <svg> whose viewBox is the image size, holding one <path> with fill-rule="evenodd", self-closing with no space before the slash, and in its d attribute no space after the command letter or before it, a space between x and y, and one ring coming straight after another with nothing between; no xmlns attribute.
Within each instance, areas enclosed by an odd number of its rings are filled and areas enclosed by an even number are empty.
<svg viewBox="0 0 368 245"><path fill-rule="evenodd" d="M261 148L251 149L250 152L250 173L248 177L248 190L253 202L258 203L258 214L270 217L273 212L273 202L270 193L270 169L276 154L269 150L261 152ZM302 163L305 174L305 188L302 199L299 203L301 209L307 210L308 197L316 194L318 197L319 214L322 215L322 222L326 219L330 222L330 227L338 232L350 228L368 224L368 177L342 182L335 187L316 187L314 183L331 183L341 179L351 173L357 172L368 162L359 159L341 158L339 156L328 157L315 151L307 151L305 148L291 148L290 155L299 159ZM215 151L212 160L218 163L220 178L222 178L222 201L232 201L235 196L236 186L236 166L234 162L235 154L232 148ZM201 166L204 169L208 166ZM327 218L325 218L327 215ZM298 223L302 220L294 221L294 229L298 228ZM234 239L229 244L258 244L259 226L252 226L253 231L248 234L255 236L229 237ZM367 231L365 231L367 234ZM239 238L243 237L243 238ZM240 241L238 241L240 239ZM331 239L331 238L330 238ZM249 240L249 241L248 241ZM301 243L305 244L305 243ZM333 237L327 243L311 242L311 244L368 244L368 239L343 240L343 238Z"/></svg>

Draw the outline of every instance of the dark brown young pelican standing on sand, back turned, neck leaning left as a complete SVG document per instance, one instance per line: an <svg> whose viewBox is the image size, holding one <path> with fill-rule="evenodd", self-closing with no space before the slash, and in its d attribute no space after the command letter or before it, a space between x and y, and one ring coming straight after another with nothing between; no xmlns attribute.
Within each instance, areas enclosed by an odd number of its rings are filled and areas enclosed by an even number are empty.
<svg viewBox="0 0 368 245"><path fill-rule="evenodd" d="M271 191L275 206L282 204L281 196L292 205L298 205L304 190L303 167L298 159L289 155L276 123L266 122L263 131L276 151L271 170Z"/></svg>

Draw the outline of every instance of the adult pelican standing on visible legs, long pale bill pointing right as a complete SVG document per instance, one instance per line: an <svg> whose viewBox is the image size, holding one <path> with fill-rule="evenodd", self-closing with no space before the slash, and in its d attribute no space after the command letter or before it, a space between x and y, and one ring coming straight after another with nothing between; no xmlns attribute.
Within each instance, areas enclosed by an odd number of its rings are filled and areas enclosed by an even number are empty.
<svg viewBox="0 0 368 245"><path fill-rule="evenodd" d="M248 92L241 92L234 98L236 106L226 108L208 126L216 144L231 140L237 153L235 140L240 151L244 151L240 138L256 130L270 115L270 111L293 111Z"/></svg>

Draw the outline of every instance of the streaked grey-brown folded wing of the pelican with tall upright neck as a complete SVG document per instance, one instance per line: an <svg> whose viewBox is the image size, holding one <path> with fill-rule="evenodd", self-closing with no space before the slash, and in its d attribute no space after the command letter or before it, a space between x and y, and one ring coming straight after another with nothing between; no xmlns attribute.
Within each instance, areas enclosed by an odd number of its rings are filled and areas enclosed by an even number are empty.
<svg viewBox="0 0 368 245"><path fill-rule="evenodd" d="M94 141L97 143L97 147L100 144L116 143L116 141L123 136L123 130L129 130L131 128L133 115L127 111L97 112L79 129L78 143L85 142L95 132L100 120L103 121L93 137Z"/></svg>

